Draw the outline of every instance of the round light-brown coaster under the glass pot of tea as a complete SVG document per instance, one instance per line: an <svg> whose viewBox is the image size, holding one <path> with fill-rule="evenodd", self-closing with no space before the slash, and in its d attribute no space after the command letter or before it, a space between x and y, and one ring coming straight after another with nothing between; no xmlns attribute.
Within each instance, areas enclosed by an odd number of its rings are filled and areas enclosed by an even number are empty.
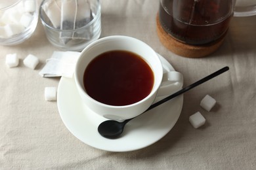
<svg viewBox="0 0 256 170"><path fill-rule="evenodd" d="M183 42L177 41L171 35L166 33L161 27L159 16L156 17L156 25L158 37L168 50L178 54L179 56L183 56L186 58L202 58L208 56L209 54L215 52L221 46L224 36L221 37L218 41L215 41L211 44L203 45L203 46L192 46L189 44L185 44Z"/></svg>

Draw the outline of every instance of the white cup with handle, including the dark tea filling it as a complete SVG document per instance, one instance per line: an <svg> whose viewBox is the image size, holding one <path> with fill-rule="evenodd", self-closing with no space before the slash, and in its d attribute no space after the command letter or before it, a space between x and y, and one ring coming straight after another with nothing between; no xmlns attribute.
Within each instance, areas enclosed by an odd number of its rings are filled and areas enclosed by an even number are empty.
<svg viewBox="0 0 256 170"><path fill-rule="evenodd" d="M146 43L125 36L98 39L82 52L75 67L75 84L82 102L113 120L144 112L157 96L182 87L182 74L163 74L158 54Z"/></svg>

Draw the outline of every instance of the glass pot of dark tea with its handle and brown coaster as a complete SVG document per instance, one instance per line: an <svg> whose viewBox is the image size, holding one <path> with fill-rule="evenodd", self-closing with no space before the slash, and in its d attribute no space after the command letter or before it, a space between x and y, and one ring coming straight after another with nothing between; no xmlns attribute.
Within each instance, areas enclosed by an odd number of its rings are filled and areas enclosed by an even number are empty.
<svg viewBox="0 0 256 170"><path fill-rule="evenodd" d="M235 0L160 0L160 41L181 56L196 58L211 54L223 42L233 15L256 14L256 5L240 7L238 12L235 3Z"/></svg>

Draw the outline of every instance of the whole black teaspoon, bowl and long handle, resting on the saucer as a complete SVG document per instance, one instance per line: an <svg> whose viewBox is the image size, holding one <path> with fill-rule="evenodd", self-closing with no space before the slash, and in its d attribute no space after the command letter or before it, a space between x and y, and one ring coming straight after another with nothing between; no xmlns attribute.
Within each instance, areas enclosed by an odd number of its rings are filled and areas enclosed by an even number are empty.
<svg viewBox="0 0 256 170"><path fill-rule="evenodd" d="M173 93L172 95L169 95L168 97L165 97L164 99L161 99L160 101L154 103L146 111L151 110L151 109L157 107L158 105L161 105L162 103L165 103L166 101L169 101L170 99L173 99L174 97L177 97L178 95L180 95L184 92L187 92L188 90L191 90L192 88L202 84L203 82L206 82L207 80L210 80L211 78L214 78L215 76L221 75L225 71L228 71L228 69L229 69L229 67L223 67L223 69L220 69L219 71L216 71L215 73L212 73L209 76L205 76L205 78L202 78L201 80L198 80L197 82L194 82L193 84L190 84L189 86L186 86L185 88L182 88L178 92ZM144 111L144 112L146 112L146 111ZM144 112L142 112L142 114ZM136 118L136 117L134 117L134 118ZM98 133L100 133L100 135L102 135L102 137L106 137L108 139L116 139L117 137L119 137L119 135L121 135L121 133L123 133L123 129L124 129L125 125L130 120L133 120L133 118L127 119L123 122L118 122L116 120L106 120L98 126Z"/></svg>

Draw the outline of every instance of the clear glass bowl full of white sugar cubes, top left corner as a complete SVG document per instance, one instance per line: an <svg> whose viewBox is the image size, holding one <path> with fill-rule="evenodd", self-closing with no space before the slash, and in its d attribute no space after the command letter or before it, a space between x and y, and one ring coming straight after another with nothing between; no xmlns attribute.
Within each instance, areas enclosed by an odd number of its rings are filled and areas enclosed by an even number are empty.
<svg viewBox="0 0 256 170"><path fill-rule="evenodd" d="M37 21L37 0L0 1L0 44L26 41L35 31Z"/></svg>

